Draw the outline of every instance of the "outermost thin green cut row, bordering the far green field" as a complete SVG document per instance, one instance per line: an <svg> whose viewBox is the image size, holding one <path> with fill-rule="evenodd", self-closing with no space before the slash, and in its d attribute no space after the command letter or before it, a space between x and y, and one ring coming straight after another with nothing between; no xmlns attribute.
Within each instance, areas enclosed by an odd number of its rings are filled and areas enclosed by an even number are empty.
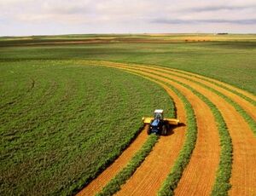
<svg viewBox="0 0 256 196"><path fill-rule="evenodd" d="M154 66L153 66L153 67L154 67ZM181 73L181 74L183 74L183 75L187 75L187 76L189 76L189 77L199 78L199 79L201 79L201 80L204 80L204 81L207 81L207 82L209 82L209 83L215 84L216 86L218 86L218 87L220 87L220 88L222 88L222 89L226 89L226 90L230 91L231 93L240 96L242 99L244 99L244 100L246 100L246 101L252 103L253 106L256 106L256 101L254 101L254 100L251 99L250 97L247 97L247 95L243 95L243 94L239 93L239 92L238 92L237 90L235 90L235 89L230 89L229 87L224 86L223 84L218 84L218 83L216 83L216 82L214 82L214 81L212 81L212 80L210 80L210 79L207 79L207 78L205 78L205 77L202 78L202 77L200 77L200 76L196 76L196 75L189 74L189 72L179 71L179 70L177 70L177 69L172 69L172 68L167 68L167 67L159 67L159 66L155 66L155 67L157 67L157 68L163 68L163 69L165 69L165 70L167 70L167 71L178 72L178 73Z"/></svg>

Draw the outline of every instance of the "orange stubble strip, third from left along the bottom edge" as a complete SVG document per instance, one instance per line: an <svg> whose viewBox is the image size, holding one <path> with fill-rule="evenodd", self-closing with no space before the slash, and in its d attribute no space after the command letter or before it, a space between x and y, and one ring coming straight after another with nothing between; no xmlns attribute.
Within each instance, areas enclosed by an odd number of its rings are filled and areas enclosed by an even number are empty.
<svg viewBox="0 0 256 196"><path fill-rule="evenodd" d="M189 98L189 102L195 111L198 132L195 149L189 164L183 171L183 176L178 183L175 194L209 195L218 168L220 152L218 130L212 111L206 103L191 94L188 89L184 89L178 84L172 83L172 85L180 89L183 95ZM207 170L205 170L206 168Z"/></svg>

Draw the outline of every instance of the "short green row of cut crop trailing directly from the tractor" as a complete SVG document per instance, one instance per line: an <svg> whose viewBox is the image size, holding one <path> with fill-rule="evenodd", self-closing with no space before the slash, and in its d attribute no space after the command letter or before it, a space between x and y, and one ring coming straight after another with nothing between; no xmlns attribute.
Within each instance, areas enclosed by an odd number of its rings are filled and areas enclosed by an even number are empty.
<svg viewBox="0 0 256 196"><path fill-rule="evenodd" d="M148 136L147 141L143 144L143 147L131 158L129 163L125 166L124 169L120 170L119 173L111 179L108 184L102 188L100 193L97 193L97 196L111 196L114 193L120 190L122 184L132 176L132 174L137 170L137 168L143 163L143 160L146 159L155 143L158 141L159 136L151 134Z"/></svg>

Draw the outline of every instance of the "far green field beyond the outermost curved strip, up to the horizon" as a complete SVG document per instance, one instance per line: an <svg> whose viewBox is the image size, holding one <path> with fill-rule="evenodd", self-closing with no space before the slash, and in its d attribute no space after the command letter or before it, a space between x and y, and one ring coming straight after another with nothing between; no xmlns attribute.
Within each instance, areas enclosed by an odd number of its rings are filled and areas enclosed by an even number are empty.
<svg viewBox="0 0 256 196"><path fill-rule="evenodd" d="M216 78L240 89L245 89L256 95L256 42L255 35L220 36L214 42L193 43L127 43L131 38L147 38L154 40L183 39L183 37L199 37L198 35L167 35L166 37L143 37L143 35L129 36L77 36L77 39L105 38L113 39L111 43L90 44L49 44L24 46L31 40L21 40L23 43L15 47L6 47L4 39L0 41L0 61L26 60L106 60L119 62L134 62L157 66L167 66L180 70L195 72ZM202 35L205 36L205 35ZM76 36L70 36L75 39ZM65 41L70 37L61 37ZM212 36L214 37L214 36ZM116 40L115 38L118 38ZM44 39L58 41L59 37L33 37L35 42ZM47 40L49 39L49 40ZM39 40L39 41L40 41ZM63 41L61 40L61 41ZM17 42L17 40L15 41Z"/></svg>

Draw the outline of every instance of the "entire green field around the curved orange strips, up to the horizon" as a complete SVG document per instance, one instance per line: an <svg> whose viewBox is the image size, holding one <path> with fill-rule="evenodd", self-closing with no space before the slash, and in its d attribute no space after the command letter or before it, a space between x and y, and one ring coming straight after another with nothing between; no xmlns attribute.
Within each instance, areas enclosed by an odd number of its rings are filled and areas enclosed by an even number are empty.
<svg viewBox="0 0 256 196"><path fill-rule="evenodd" d="M256 35L199 37L0 37L0 194L76 193L131 143L143 116L172 116L157 84L82 60L173 67L256 95Z"/></svg>

